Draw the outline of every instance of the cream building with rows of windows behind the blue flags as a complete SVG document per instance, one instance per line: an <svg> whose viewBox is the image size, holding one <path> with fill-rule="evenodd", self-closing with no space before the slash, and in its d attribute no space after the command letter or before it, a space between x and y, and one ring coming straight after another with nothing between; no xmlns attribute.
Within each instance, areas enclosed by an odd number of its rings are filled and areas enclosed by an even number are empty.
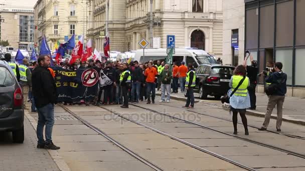
<svg viewBox="0 0 305 171"><path fill-rule="evenodd" d="M45 35L50 48L59 40L67 41L73 34L78 40L87 34L90 0L38 0L34 6L35 43Z"/></svg>

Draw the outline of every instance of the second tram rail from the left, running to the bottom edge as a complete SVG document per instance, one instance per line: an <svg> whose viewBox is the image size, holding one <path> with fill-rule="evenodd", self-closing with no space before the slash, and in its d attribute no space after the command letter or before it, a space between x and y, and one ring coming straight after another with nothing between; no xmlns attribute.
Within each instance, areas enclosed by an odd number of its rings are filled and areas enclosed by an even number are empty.
<svg viewBox="0 0 305 171"><path fill-rule="evenodd" d="M132 105L133 105L133 104L132 104ZM136 105L134 105L134 106L136 106ZM121 118L123 118L123 119L126 119L126 120L128 120L128 121L130 121L130 122L133 122L133 123L135 123L135 124L141 125L141 126L143 126L143 127L145 127L145 128L148 128L148 129L150 129L150 130L153 130L153 131L155 131L155 132L157 132L157 133L160 133L160 134L162 134L162 135L165 135L165 136L167 136L167 137L170 137L170 138L172 138L172 139L174 139L174 140L176 140L176 141L179 141L179 142L184 143L184 144L186 144L186 145L188 145L188 146L191 146L191 147L193 147L193 148L195 148L195 149L197 149L197 150L199 150L199 151L208 153L208 154L213 155L213 156L215 156L215 157L217 157L217 158L220 158L220 159L222 159L222 160L225 160L225 161L227 161L227 162L230 162L230 163L232 163L232 164L234 164L234 165L237 165L237 166L239 166L239 167L241 167L241 168L244 168L244 169L246 169L246 170L251 170L251 171L256 170L255 168L249 167L249 166L244 165L244 164L242 164L242 163L239 163L239 162L237 162L237 161L235 161L235 160L232 160L232 159L230 159L230 158L227 158L227 157L225 157L225 156L223 156L223 155L220 155L220 154L218 154L218 153L215 153L215 152L212 152L212 151L207 150L207 149L205 149L205 148L202 148L202 147L200 147L200 146L198 146L198 145L195 145L195 144L193 144L193 143L190 143L190 142L188 142L188 141L185 141L185 140L183 140L183 139L181 139L181 138L178 138L178 137L176 137L176 136L173 136L173 135L168 134L168 133L166 133L166 132L163 132L163 131L161 131L161 130L158 130L158 129L154 128L154 127L151 127L151 126L145 125L145 124L143 124L143 123L141 123L141 122L138 122L138 121L135 121L135 120L133 120L133 119L130 119L130 118L128 118L128 117L122 115L122 114L119 113L119 112L113 111L112 109L108 109L108 108L105 108L105 107L102 107L102 106L99 106L99 107L102 108L102 109L104 109L104 110L107 110L107 111L109 111L109 112L111 112L111 113L113 113L113 114L115 114L115 115L117 115L117 116L119 116L119 117L121 117ZM141 107L140 107L140 108L141 108ZM72 113L71 113L71 114L72 114Z"/></svg>

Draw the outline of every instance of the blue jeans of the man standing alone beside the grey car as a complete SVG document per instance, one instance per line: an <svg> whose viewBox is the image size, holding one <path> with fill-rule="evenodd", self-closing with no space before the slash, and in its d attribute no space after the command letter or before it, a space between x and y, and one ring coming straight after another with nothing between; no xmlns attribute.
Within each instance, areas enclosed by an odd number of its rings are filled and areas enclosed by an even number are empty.
<svg viewBox="0 0 305 171"><path fill-rule="evenodd" d="M52 129L54 125L54 104L47 104L41 108L37 108L38 123L37 123L37 138L38 143L52 142ZM46 125L46 141L44 140L44 126Z"/></svg>

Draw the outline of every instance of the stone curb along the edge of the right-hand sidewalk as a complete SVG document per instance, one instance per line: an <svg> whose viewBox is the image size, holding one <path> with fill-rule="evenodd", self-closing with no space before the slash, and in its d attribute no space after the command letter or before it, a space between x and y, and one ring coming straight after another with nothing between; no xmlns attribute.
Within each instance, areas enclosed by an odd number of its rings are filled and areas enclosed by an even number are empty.
<svg viewBox="0 0 305 171"><path fill-rule="evenodd" d="M156 92L156 95L161 96L161 93L157 93ZM184 97L171 96L171 98L175 99L175 100L179 100L179 101L186 101L186 99ZM199 101L201 101L201 100L195 100L195 102L199 102ZM205 103L206 104L213 104L213 103L207 103L207 102L205 102ZM217 105L217 104L213 104L213 105ZM220 105L218 105L218 106L220 106ZM259 111L255 111L255 110L247 110L246 114L247 115L251 115L251 116L257 116L257 117L265 117L265 113L259 112ZM276 119L277 115L271 114L271 118L272 119ZM297 119L287 118L287 117L282 117L282 120L286 121L286 122L290 122L290 123L305 125L305 120L297 120Z"/></svg>

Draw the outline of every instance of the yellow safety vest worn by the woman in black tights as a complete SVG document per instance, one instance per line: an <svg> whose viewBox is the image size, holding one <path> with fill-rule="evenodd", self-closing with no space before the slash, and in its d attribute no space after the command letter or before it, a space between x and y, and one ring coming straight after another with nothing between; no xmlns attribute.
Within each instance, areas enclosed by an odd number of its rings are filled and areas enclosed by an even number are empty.
<svg viewBox="0 0 305 171"><path fill-rule="evenodd" d="M239 84L239 82L242 78L243 78L243 76L241 76L241 75L233 75L232 91L235 89L235 87L237 87L237 85ZM234 95L236 95L236 96L247 96L248 85L249 85L249 78L246 76L245 80L242 82L242 84L235 91Z"/></svg>

